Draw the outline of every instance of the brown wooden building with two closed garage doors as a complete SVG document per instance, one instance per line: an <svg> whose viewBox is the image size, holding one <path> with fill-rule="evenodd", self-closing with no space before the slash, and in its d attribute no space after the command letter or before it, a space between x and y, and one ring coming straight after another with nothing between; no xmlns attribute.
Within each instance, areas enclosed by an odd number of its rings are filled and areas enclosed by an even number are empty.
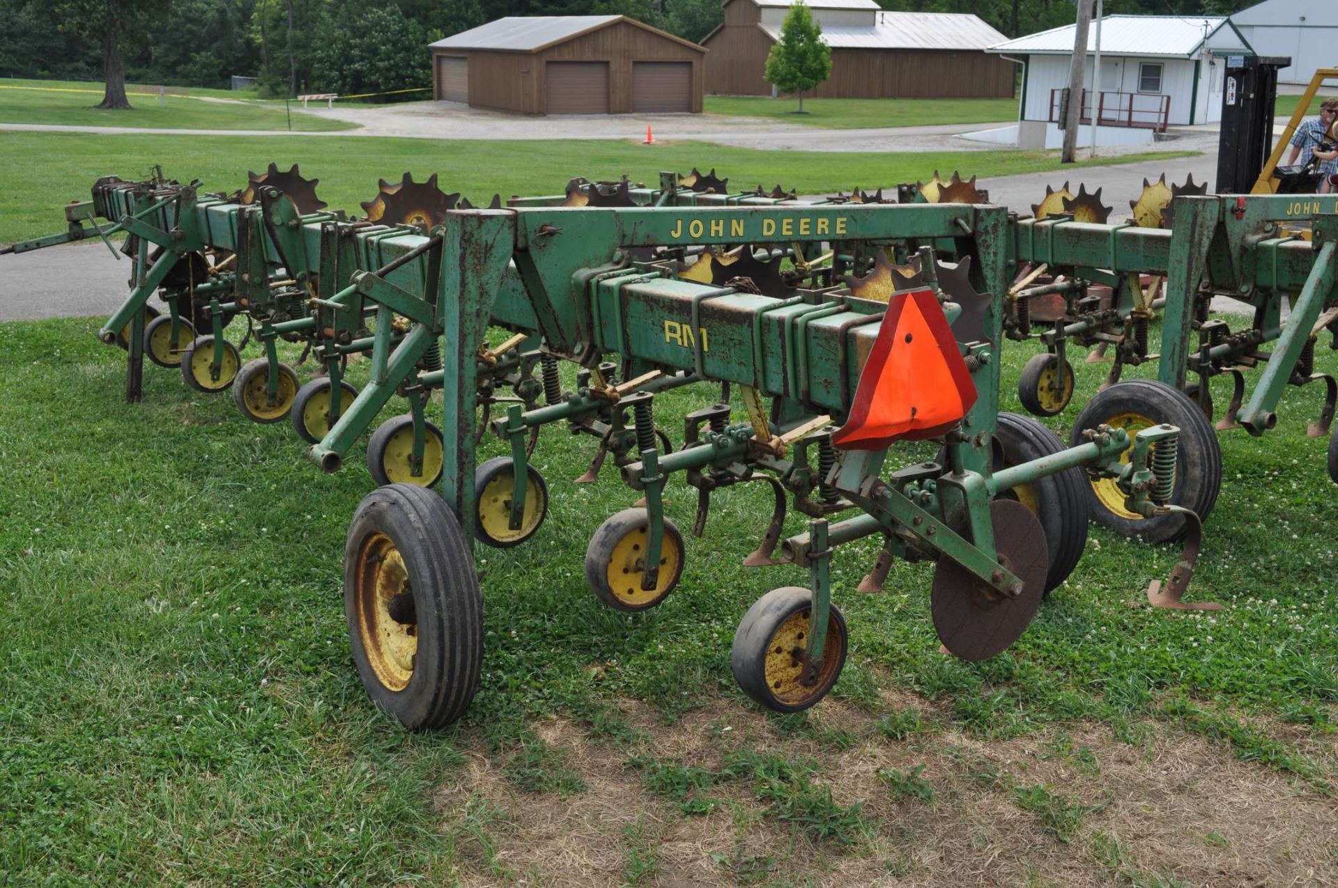
<svg viewBox="0 0 1338 888"><path fill-rule="evenodd" d="M628 16L516 16L438 40L432 98L514 114L701 112L706 51Z"/></svg>

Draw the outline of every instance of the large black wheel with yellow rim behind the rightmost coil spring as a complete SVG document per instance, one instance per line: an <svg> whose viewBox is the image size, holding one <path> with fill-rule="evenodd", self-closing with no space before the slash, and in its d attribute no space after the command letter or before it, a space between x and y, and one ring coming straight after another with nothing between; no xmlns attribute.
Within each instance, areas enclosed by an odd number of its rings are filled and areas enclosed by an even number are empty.
<svg viewBox="0 0 1338 888"><path fill-rule="evenodd" d="M1088 401L1073 421L1070 444L1082 444L1082 429L1105 424L1129 432L1129 451L1120 461L1129 460L1133 436L1151 425L1171 423L1180 429L1180 453L1176 464L1175 492L1171 502L1208 519L1218 489L1222 487L1222 448L1218 436L1199 405L1184 392L1155 380L1117 382ZM1149 543L1177 540L1188 531L1180 515L1143 518L1124 508L1124 493L1115 479L1088 484L1092 520L1124 536L1141 536Z"/></svg>

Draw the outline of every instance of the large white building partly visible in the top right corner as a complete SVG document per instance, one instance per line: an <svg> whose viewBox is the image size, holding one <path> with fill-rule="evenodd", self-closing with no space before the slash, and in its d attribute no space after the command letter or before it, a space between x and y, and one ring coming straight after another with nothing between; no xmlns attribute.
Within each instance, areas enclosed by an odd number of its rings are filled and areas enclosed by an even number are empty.
<svg viewBox="0 0 1338 888"><path fill-rule="evenodd" d="M1264 0L1231 16L1262 56L1291 56L1279 83L1310 83L1315 68L1338 67L1338 0Z"/></svg>

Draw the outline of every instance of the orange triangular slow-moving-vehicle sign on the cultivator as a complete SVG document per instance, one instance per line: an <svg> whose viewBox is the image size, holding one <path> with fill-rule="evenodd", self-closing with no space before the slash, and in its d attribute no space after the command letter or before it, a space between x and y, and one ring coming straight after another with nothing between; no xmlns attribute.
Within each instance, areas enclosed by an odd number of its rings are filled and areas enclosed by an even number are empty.
<svg viewBox="0 0 1338 888"><path fill-rule="evenodd" d="M880 451L943 435L975 404L975 384L930 289L898 293L859 374L850 419L832 444Z"/></svg>

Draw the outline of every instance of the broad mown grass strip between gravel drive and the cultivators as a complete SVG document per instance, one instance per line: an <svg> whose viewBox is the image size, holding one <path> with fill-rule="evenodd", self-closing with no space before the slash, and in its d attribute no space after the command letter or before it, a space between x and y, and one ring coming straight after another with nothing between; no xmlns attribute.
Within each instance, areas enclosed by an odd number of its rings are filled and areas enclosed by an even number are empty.
<svg viewBox="0 0 1338 888"><path fill-rule="evenodd" d="M962 151L943 154L832 154L757 151L700 143L634 142L432 142L424 139L339 139L286 136L193 136L7 132L9 163L0 167L0 242L37 237L64 226L60 206L87 199L98 177L143 178L161 163L182 181L201 179L206 190L230 191L246 171L277 162L285 170L300 163L306 177L321 181L318 193L330 206L359 211L360 201L376 194L376 181L399 181L404 171L417 179L440 174L444 191L460 191L475 202L503 195L559 194L574 175L657 182L660 170L702 171L714 167L731 187L771 190L781 183L800 194L895 186L927 181L934 170L989 177L1057 170L1057 152ZM1124 155L1133 163L1141 155ZM1149 155L1157 159L1180 154ZM1105 162L1103 158L1101 163ZM1080 162L1085 164L1088 162ZM499 173L506 170L506 173ZM32 182L58 183L32 199ZM987 187L987 182L985 183Z"/></svg>

